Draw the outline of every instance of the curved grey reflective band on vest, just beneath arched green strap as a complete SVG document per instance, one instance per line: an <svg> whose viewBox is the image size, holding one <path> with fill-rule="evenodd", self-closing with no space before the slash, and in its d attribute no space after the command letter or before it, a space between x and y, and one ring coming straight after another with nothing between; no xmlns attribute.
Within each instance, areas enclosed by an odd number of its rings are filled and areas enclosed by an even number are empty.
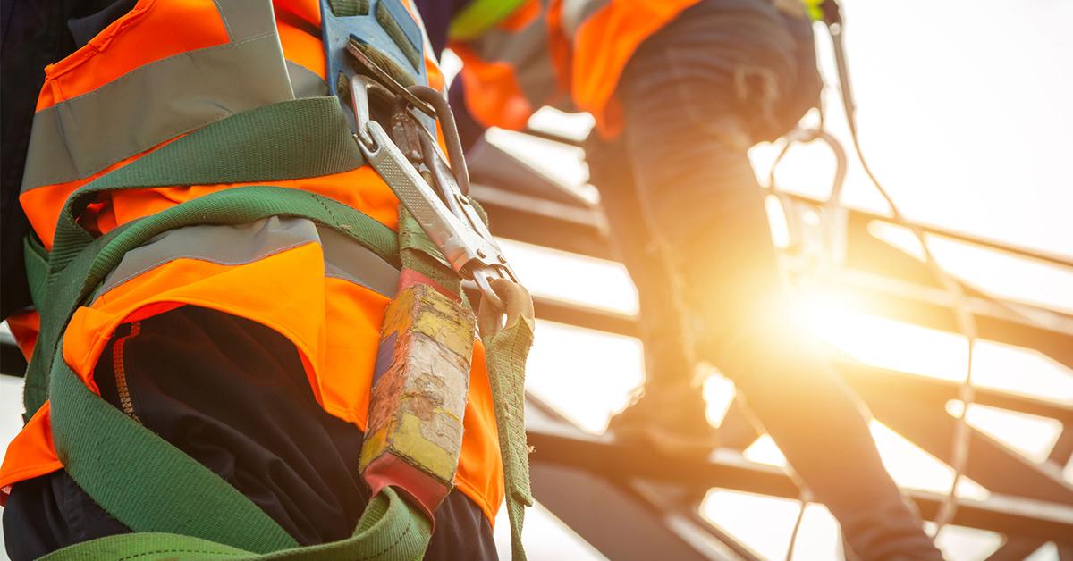
<svg viewBox="0 0 1073 561"><path fill-rule="evenodd" d="M271 217L249 224L195 225L165 232L128 251L105 277L100 295L144 272L178 260L218 265L244 265L286 250L319 243L325 276L338 278L383 296L395 295L399 271L353 239L304 218ZM95 299L95 298L94 298Z"/></svg>

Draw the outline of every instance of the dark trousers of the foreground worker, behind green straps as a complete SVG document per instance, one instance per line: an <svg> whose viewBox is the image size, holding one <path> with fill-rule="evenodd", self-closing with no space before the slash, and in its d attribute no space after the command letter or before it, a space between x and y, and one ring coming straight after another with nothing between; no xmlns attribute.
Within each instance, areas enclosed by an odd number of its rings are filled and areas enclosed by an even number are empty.
<svg viewBox="0 0 1073 561"><path fill-rule="evenodd" d="M116 364L129 401L119 398ZM235 486L298 543L353 533L369 501L357 473L362 431L321 409L297 352L276 331L178 308L120 326L94 380L102 397ZM130 531L63 471L14 485L3 530L15 561ZM491 526L460 491L437 511L425 558L497 558Z"/></svg>

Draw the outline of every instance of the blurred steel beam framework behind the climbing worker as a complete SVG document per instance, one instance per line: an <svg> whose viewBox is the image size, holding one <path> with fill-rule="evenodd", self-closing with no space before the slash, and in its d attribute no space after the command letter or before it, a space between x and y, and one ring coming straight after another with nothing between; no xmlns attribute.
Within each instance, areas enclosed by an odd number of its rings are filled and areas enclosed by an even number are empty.
<svg viewBox="0 0 1073 561"><path fill-rule="evenodd" d="M569 142L554 135L545 138ZM546 179L520 160L481 145L471 162L472 194L483 204L498 235L582 255L615 259L599 209ZM819 209L821 201L796 197ZM869 224L887 217L851 211L846 266L824 278L833 290L866 311L916 325L954 330L946 293L921 262L873 237ZM956 232L925 226L945 237L993 251L1073 268L1073 259L1027 251ZM980 337L1039 351L1073 368L1073 316L1019 302L996 301L967 287ZM620 335L637 334L636 319L550 298L536 298L539 318ZM2 371L20 375L25 361L11 337L0 338ZM944 410L957 384L850 360L838 363L885 425L940 460L950 461L955 422ZM532 372L531 375L540 375ZM1011 373L1014 375L1014 373ZM1015 394L978 389L981 404L1059 420L1062 432L1040 463L973 431L966 475L990 491L983 501L961 499L952 523L1005 536L993 560L1023 559L1055 542L1061 559L1073 559L1073 485L1062 475L1073 455L1073 405ZM706 461L643 454L579 430L545 403L530 397L527 423L532 484L536 499L611 559L755 559L756 555L706 522L700 501L714 487L776 497L799 497L782 470L748 462L743 451L758 437L735 408L721 427L724 447ZM909 491L925 518L943 497ZM594 515L599 513L599 515Z"/></svg>

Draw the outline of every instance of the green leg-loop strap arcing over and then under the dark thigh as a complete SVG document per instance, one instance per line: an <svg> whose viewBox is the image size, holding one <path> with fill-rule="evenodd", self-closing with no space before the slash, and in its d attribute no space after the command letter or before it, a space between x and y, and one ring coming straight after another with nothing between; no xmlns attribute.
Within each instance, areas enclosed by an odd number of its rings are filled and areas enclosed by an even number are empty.
<svg viewBox="0 0 1073 561"><path fill-rule="evenodd" d="M42 326L67 325L122 256L152 237L192 224L245 224L300 217L350 236L397 263L395 233L341 203L307 191L244 187L211 193L93 240L49 283ZM50 368L53 435L71 477L135 532L168 532L254 552L297 545L261 508L210 470L90 392L62 358L57 329L39 349ZM32 364L32 363L31 363ZM41 365L38 365L39 367Z"/></svg>

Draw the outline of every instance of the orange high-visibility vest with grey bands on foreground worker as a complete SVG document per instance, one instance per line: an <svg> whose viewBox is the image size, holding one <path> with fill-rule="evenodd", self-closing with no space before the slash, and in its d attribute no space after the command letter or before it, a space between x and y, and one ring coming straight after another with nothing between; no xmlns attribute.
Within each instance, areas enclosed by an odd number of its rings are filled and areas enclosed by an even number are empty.
<svg viewBox="0 0 1073 561"><path fill-rule="evenodd" d="M231 115L326 95L320 24L317 0L139 0L87 45L48 65L19 197L44 247L52 248L67 197L91 180ZM430 86L442 89L427 53L425 64ZM109 192L90 205L83 225L108 232L242 184ZM398 201L369 166L273 184L324 195L397 227ZM179 306L210 308L286 337L321 407L364 430L380 327L394 291L385 266L305 219L170 231L129 252L92 301L77 309L63 334L63 359L98 392L94 365L118 326ZM27 350L33 318L16 324ZM455 484L493 522L503 501L503 473L480 341L472 365ZM30 413L0 467L0 501L13 484L63 468L48 402Z"/></svg>

